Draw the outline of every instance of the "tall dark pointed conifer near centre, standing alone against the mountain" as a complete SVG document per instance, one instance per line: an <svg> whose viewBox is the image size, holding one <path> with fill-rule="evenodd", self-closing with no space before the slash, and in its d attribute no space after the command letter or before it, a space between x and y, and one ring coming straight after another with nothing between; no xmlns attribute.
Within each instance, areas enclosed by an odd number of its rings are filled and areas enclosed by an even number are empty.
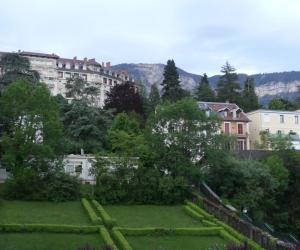
<svg viewBox="0 0 300 250"><path fill-rule="evenodd" d="M174 60L168 60L164 69L164 80L161 83L162 99L176 102L184 96L184 91L180 86L179 74Z"/></svg>

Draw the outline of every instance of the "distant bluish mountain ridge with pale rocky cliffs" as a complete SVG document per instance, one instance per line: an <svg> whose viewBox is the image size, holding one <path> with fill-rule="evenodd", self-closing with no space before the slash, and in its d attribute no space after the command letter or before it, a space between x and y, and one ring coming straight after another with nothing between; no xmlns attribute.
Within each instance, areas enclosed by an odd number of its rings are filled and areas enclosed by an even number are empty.
<svg viewBox="0 0 300 250"><path fill-rule="evenodd" d="M138 82L145 85L149 90L150 86L156 83L160 87L163 80L164 64L146 63L123 63L113 66L114 70L127 70L128 73ZM188 73L178 68L183 88L193 90L200 81L201 76ZM251 75L255 81L255 90L262 104L267 103L274 96L294 100L300 97L300 71L264 73ZM220 75L209 77L210 84L216 87ZM247 75L239 74L239 81L243 85Z"/></svg>

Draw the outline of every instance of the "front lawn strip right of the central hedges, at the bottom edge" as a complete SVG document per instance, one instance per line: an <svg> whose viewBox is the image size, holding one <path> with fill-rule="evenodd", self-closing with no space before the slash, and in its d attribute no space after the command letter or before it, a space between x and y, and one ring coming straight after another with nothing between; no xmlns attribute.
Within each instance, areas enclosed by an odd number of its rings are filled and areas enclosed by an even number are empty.
<svg viewBox="0 0 300 250"><path fill-rule="evenodd" d="M226 241L217 236L126 236L134 250L209 250ZM218 248L218 249L220 249Z"/></svg>

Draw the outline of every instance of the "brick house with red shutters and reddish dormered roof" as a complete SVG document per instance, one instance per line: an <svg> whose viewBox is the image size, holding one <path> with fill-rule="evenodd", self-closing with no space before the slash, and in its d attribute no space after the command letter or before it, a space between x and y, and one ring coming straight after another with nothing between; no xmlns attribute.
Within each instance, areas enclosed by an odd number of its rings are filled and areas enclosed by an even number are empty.
<svg viewBox="0 0 300 250"><path fill-rule="evenodd" d="M236 136L235 150L248 150L250 119L235 103L198 102L199 107L209 116L216 114L222 121L221 132Z"/></svg>

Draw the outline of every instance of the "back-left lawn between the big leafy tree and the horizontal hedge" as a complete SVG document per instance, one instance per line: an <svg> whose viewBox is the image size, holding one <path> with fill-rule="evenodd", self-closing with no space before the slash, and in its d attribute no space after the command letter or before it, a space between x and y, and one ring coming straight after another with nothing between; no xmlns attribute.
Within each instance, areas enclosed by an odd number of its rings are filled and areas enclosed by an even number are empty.
<svg viewBox="0 0 300 250"><path fill-rule="evenodd" d="M90 224L89 218L79 201L61 203L3 201L0 203L0 215L0 224Z"/></svg>

